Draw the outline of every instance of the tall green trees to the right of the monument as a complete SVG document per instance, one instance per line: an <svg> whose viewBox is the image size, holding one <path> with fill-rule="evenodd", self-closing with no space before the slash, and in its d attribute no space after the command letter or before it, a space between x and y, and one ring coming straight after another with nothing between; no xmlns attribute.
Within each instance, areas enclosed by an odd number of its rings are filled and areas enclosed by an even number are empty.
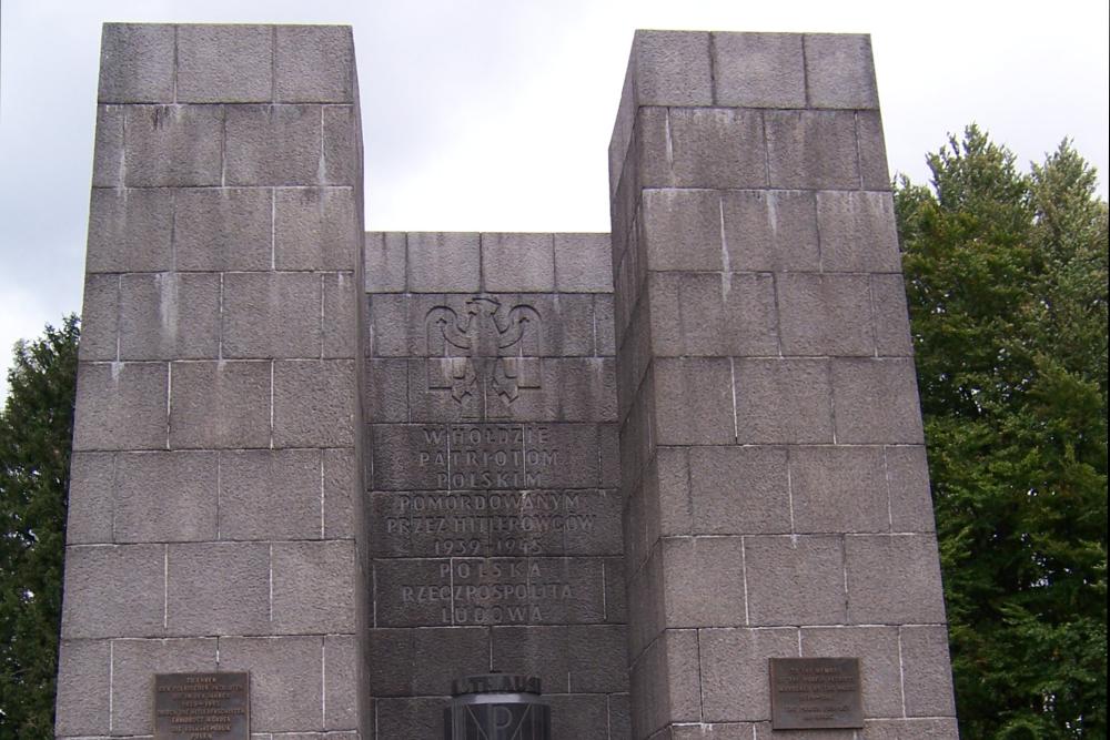
<svg viewBox="0 0 1110 740"><path fill-rule="evenodd" d="M1107 204L976 126L895 204L966 740L1107 733Z"/></svg>

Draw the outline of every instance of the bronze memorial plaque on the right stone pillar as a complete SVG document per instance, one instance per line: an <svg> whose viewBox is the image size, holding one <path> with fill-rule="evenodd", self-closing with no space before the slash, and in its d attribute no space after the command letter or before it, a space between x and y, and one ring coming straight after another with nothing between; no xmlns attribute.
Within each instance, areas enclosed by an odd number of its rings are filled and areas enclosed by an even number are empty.
<svg viewBox="0 0 1110 740"><path fill-rule="evenodd" d="M859 658L771 658L774 730L864 727Z"/></svg>

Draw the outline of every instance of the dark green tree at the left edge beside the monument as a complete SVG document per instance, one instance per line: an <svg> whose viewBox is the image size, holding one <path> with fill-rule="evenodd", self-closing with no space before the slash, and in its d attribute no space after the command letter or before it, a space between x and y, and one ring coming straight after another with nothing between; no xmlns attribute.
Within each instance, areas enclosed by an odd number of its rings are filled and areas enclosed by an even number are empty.
<svg viewBox="0 0 1110 740"><path fill-rule="evenodd" d="M0 412L0 737L52 738L78 318L16 346Z"/></svg>

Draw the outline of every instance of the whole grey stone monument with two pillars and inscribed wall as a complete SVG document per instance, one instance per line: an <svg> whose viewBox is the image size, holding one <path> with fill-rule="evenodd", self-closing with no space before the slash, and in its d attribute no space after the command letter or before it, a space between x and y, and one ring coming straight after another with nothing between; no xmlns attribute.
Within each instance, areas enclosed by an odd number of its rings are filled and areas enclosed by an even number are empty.
<svg viewBox="0 0 1110 740"><path fill-rule="evenodd" d="M869 39L638 32L612 235L366 233L359 116L104 27L57 736L957 737Z"/></svg>

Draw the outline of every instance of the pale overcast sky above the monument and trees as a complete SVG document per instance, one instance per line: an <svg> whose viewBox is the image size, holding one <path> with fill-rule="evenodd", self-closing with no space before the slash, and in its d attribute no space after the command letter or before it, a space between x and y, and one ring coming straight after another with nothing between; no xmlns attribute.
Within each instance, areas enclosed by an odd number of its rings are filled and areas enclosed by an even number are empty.
<svg viewBox="0 0 1110 740"><path fill-rule="evenodd" d="M100 26L354 27L367 227L608 231L633 30L868 32L891 171L976 121L1027 166L1108 166L1108 3L0 0L0 396L10 347L81 306Z"/></svg>

